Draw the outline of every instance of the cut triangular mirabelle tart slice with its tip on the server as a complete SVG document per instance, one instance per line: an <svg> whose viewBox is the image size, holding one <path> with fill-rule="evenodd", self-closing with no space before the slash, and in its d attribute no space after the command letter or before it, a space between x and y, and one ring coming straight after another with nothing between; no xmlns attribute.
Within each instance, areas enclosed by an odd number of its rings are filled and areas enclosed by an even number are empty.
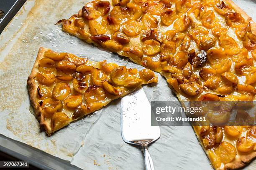
<svg viewBox="0 0 256 170"><path fill-rule="evenodd" d="M153 71L89 61L41 47L28 77L31 105L51 135L143 84L156 83Z"/></svg>

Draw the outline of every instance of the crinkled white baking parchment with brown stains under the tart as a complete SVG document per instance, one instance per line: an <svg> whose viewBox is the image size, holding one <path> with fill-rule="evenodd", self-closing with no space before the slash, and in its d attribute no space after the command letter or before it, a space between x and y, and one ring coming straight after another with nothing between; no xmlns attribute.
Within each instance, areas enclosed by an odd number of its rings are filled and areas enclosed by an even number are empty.
<svg viewBox="0 0 256 170"><path fill-rule="evenodd" d="M58 20L69 18L87 1L27 0L0 35L0 133L54 155L82 169L142 170L140 148L123 142L120 133L120 100L73 122L51 137L40 131L31 114L26 80L40 46L70 52L90 60L115 62L143 69L124 57L88 45L61 31ZM255 20L256 2L235 0ZM158 74L159 75L159 74ZM143 87L148 100L177 100L166 80ZM162 126L161 138L149 147L156 170L211 169L190 126ZM248 170L256 169L256 161Z"/></svg>

